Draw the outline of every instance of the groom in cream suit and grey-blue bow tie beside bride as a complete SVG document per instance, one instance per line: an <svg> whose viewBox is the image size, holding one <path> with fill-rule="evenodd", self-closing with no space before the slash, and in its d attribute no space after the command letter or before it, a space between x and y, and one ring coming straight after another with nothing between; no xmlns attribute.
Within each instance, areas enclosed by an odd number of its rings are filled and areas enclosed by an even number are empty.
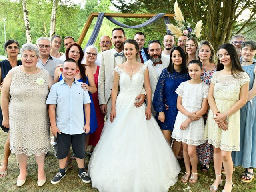
<svg viewBox="0 0 256 192"><path fill-rule="evenodd" d="M114 68L118 64L122 64L126 61L124 56L123 44L126 40L125 32L122 28L114 28L112 30L112 42L114 48L102 52L102 59L100 61L100 72L98 78L98 97L100 110L102 113L109 117L111 110L111 91L113 86L113 74ZM140 58L138 61L141 62ZM136 107L142 106L146 96L140 94L135 99L140 99L135 103Z"/></svg>

